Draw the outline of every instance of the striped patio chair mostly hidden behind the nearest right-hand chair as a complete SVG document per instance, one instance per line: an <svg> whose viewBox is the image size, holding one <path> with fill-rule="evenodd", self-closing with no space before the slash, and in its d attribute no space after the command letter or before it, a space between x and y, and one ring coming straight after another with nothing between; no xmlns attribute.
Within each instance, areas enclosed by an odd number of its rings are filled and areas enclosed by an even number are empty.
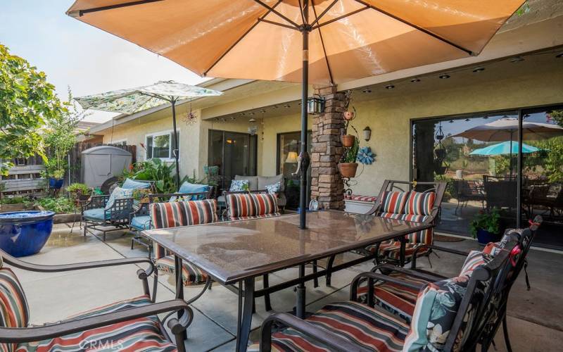
<svg viewBox="0 0 563 352"><path fill-rule="evenodd" d="M526 229L508 229L505 231L502 239L493 244L488 244L484 253L497 253L501 249L507 246L510 241L515 241L517 243L517 249L519 254L516 259L511 258L512 266L510 271L507 273L507 279L505 282L505 288L503 291L503 298L498 303L498 311L494 315L494 319L488 323L486 327L485 334L481 336L481 345L488 346L491 345L493 337L500 327L502 322L503 334L505 337L505 342L507 350L511 351L510 338L508 335L507 321L506 321L506 303L508 301L508 296L510 294L510 289L512 284L516 281L519 273L522 269L526 271L527 267L527 255L531 244L533 243L533 238L536 234L536 230L542 222L542 218L537 216L533 222L530 221L530 226ZM445 247L432 246L434 251L443 251L445 253L452 253L458 256L469 256L469 253L464 251L457 251L455 249L449 249ZM438 275L435 272L429 272L417 268L416 257L413 258L411 262L410 270L398 268L392 265L379 265L376 266L372 271L380 270L381 272L386 272L388 276L394 279L400 279L405 282L410 282L411 284L428 284L429 282L436 282L440 279L445 279L444 276ZM418 291L416 289L411 289L408 287L400 287L393 282L382 282L382 281L372 281L371 294L369 293L369 287L362 287L358 290L359 299L362 302L371 302L371 306L377 305L384 308L390 313L400 316L400 318L409 322L412 320L412 315L415 313L415 305L417 302ZM526 285L528 289L529 280L526 272Z"/></svg>

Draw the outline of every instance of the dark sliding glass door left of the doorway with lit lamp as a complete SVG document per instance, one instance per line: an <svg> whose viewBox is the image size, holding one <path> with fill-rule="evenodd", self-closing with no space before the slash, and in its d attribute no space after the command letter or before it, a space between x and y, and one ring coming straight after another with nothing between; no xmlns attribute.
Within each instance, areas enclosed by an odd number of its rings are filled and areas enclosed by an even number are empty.
<svg viewBox="0 0 563 352"><path fill-rule="evenodd" d="M210 130L208 165L219 167L222 189L229 188L235 175L256 175L256 136Z"/></svg>

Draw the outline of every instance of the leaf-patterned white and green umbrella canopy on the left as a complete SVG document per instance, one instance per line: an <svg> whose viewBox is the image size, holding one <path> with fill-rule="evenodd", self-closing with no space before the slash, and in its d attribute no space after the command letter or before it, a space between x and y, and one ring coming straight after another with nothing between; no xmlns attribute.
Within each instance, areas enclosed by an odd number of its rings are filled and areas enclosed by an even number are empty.
<svg viewBox="0 0 563 352"><path fill-rule="evenodd" d="M144 87L120 89L102 94L75 98L85 109L132 114L162 105L172 100L217 96L222 92L189 84L160 81Z"/></svg>

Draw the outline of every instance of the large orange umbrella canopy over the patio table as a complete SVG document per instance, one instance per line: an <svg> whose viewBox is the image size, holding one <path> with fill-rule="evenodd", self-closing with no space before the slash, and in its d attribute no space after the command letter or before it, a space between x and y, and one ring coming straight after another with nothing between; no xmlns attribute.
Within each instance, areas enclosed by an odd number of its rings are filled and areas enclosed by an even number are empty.
<svg viewBox="0 0 563 352"><path fill-rule="evenodd" d="M71 15L210 77L339 84L481 52L523 0L77 0ZM134 5L131 5L134 4ZM102 9L102 10L100 10Z"/></svg>

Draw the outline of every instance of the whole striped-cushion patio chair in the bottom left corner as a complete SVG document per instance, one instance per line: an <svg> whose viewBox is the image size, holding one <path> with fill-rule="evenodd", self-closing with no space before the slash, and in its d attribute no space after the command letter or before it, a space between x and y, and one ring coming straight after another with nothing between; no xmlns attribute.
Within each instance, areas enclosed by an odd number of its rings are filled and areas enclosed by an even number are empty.
<svg viewBox="0 0 563 352"><path fill-rule="evenodd" d="M185 351L183 334L194 314L181 299L154 303L147 278L154 272L148 258L124 258L67 265L26 263L0 250L0 350L1 351L98 351L108 348L127 351ZM1 260L0 260L1 263ZM40 326L29 324L30 310L15 268L33 272L69 272L116 265L146 264L137 270L144 295L87 310L60 322ZM156 285L156 281L155 281ZM156 287L156 286L155 286ZM173 313L180 318L172 318ZM160 320L158 314L168 313ZM164 326L172 331L175 343Z"/></svg>

